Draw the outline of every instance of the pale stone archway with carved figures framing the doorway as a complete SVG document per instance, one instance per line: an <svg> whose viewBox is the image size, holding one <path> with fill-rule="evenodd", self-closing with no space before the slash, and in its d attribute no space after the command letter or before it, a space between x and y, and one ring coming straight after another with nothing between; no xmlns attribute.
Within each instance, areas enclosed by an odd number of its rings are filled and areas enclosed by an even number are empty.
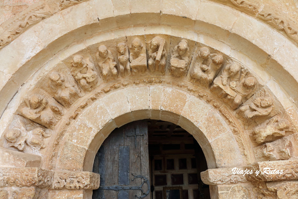
<svg viewBox="0 0 298 199"><path fill-rule="evenodd" d="M99 186L90 160L100 144L114 128L140 118L179 124L197 139L209 168L201 176L214 198L295 194L288 191L297 186L298 50L291 39L210 1L130 8L74 2L53 15L38 13L41 22L0 49L1 194L90 198ZM185 6L198 9L181 12ZM120 56L131 55L136 40L145 67L139 61L134 68L131 60L131 74L122 74ZM177 59L185 68L171 61L182 41L189 54ZM152 42L164 45L159 67L147 66L150 56L154 61ZM121 43L125 53L119 54ZM114 56L108 72L102 45ZM73 69L80 61L85 71ZM233 67L238 76L229 74ZM285 175L244 178L231 173L234 166L274 167Z"/></svg>

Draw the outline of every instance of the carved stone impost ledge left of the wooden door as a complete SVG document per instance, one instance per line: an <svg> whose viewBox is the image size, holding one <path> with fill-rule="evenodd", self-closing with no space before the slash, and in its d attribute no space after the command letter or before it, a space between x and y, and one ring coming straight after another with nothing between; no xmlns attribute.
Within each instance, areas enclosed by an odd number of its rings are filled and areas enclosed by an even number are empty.
<svg viewBox="0 0 298 199"><path fill-rule="evenodd" d="M98 189L100 175L92 172L49 171L34 167L0 168L0 187Z"/></svg>

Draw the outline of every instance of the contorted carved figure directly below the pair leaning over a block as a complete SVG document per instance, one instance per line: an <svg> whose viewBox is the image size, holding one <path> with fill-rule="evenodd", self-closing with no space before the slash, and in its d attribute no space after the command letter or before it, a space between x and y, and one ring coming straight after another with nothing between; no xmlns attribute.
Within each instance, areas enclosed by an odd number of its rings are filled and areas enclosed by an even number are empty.
<svg viewBox="0 0 298 199"><path fill-rule="evenodd" d="M245 104L239 108L238 114L247 120L256 117L269 115L273 109L273 99L271 97L257 97L250 104Z"/></svg>

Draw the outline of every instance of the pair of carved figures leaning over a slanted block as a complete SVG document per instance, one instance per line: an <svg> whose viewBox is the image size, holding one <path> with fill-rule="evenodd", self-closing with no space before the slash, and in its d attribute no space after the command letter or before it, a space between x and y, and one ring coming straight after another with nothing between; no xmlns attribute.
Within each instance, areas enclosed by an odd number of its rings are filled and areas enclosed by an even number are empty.
<svg viewBox="0 0 298 199"><path fill-rule="evenodd" d="M237 63L227 65L211 86L220 98L236 109L252 95L256 79Z"/></svg>

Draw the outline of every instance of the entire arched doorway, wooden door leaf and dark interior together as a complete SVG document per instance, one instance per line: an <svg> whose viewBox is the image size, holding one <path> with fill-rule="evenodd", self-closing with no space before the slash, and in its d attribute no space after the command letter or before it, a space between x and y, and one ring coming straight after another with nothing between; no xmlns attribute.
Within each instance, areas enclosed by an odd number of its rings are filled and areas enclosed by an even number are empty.
<svg viewBox="0 0 298 199"><path fill-rule="evenodd" d="M98 150L92 198L210 198L200 172L207 169L197 141L180 126L140 120L114 129ZM179 197L178 197L179 196Z"/></svg>

